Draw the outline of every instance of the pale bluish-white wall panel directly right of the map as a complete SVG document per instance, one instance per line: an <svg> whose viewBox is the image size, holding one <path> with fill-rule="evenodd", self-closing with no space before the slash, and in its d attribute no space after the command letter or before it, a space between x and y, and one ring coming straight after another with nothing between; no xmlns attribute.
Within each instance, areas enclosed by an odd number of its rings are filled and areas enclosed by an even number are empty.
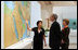
<svg viewBox="0 0 78 50"><path fill-rule="evenodd" d="M30 1L31 13L30 13L30 27L37 26L37 21L41 20L41 5L37 1ZM30 34L34 37L34 33Z"/></svg>

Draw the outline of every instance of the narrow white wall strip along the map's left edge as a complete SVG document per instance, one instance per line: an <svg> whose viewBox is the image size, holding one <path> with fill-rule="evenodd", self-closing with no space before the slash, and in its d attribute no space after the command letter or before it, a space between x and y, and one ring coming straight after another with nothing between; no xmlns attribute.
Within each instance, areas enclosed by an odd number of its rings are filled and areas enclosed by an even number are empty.
<svg viewBox="0 0 78 50"><path fill-rule="evenodd" d="M3 20L4 20L4 1L1 1L1 49L4 48L4 40L3 40Z"/></svg>

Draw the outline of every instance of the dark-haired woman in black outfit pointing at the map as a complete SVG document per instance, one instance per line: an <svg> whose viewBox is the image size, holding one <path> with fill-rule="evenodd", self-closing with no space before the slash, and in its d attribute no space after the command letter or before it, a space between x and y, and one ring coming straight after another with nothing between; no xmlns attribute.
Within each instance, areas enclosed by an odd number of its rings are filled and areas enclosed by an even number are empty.
<svg viewBox="0 0 78 50"><path fill-rule="evenodd" d="M47 45L46 45L46 38L44 38L44 29L41 27L42 21L38 21L37 22L38 27L34 27L34 28L29 28L27 20L26 20L26 23L27 23L27 28L35 33L32 48L34 49L43 49L43 39L44 39L44 46L47 46Z"/></svg>

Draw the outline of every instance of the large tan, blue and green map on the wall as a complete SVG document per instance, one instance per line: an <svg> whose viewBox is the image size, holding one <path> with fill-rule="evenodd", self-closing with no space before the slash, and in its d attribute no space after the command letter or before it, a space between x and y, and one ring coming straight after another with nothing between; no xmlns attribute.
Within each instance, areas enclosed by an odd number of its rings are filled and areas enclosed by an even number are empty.
<svg viewBox="0 0 78 50"><path fill-rule="evenodd" d="M30 25L29 1L4 1L4 48L29 37L26 18Z"/></svg>

